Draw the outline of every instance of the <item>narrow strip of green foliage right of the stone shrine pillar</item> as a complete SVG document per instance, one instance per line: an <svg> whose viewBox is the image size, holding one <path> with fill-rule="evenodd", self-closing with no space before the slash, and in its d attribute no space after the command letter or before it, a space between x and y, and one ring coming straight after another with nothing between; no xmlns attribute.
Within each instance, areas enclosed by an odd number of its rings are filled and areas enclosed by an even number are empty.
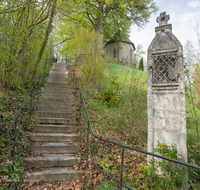
<svg viewBox="0 0 200 190"><path fill-rule="evenodd" d="M189 58L187 60L190 60ZM199 110L199 66L195 66L193 83L190 80L190 70L188 64L184 65L184 74L186 78L185 96L187 109L187 148L188 162L194 165L200 165L200 110ZM189 179L198 184L200 171L188 168Z"/></svg>

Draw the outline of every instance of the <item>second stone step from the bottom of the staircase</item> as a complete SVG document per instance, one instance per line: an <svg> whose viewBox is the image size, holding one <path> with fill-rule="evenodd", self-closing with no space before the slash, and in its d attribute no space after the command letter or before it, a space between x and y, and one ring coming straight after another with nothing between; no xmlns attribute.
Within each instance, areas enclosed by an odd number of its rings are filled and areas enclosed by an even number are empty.
<svg viewBox="0 0 200 190"><path fill-rule="evenodd" d="M73 167L80 161L79 157L67 154L45 155L43 157L26 158L25 163L29 167Z"/></svg>

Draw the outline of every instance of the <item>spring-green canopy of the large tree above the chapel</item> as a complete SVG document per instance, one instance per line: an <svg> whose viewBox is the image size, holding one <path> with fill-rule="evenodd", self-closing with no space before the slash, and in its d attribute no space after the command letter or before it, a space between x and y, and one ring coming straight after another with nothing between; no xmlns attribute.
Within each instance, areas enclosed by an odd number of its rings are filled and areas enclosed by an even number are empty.
<svg viewBox="0 0 200 190"><path fill-rule="evenodd" d="M75 30L84 26L104 35L104 43L121 31L128 37L130 26L143 28L152 13L158 10L153 0L78 0L59 1L55 22L55 39L64 42L61 51L66 49Z"/></svg>

